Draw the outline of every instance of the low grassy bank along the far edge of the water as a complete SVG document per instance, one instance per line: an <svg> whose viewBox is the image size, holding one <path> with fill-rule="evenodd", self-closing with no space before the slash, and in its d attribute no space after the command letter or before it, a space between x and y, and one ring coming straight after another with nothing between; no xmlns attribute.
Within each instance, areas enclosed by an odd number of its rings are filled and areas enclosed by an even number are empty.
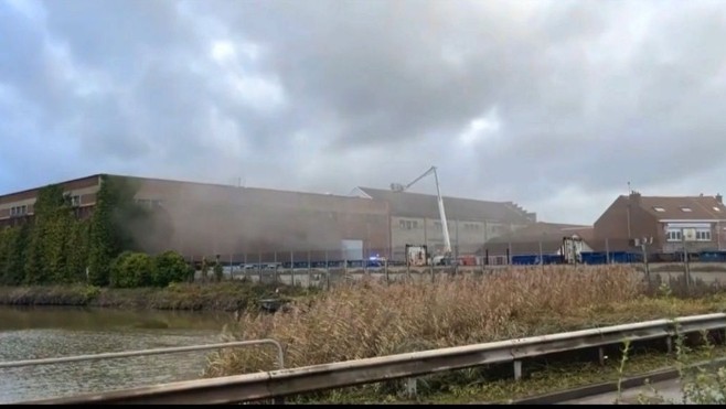
<svg viewBox="0 0 726 409"><path fill-rule="evenodd" d="M279 293L276 293L279 289ZM0 304L121 309L234 311L257 310L260 299L306 298L299 287L243 281L173 283L166 288L111 289L93 286L0 287Z"/></svg>

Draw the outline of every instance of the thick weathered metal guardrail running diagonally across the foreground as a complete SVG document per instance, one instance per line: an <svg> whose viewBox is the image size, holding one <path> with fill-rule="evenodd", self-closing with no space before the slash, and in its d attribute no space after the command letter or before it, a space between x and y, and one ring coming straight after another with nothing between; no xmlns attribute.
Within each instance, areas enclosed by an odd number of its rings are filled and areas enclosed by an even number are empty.
<svg viewBox="0 0 726 409"><path fill-rule="evenodd" d="M24 403L236 403L508 362L519 377L527 357L724 329L726 314L694 315Z"/></svg>

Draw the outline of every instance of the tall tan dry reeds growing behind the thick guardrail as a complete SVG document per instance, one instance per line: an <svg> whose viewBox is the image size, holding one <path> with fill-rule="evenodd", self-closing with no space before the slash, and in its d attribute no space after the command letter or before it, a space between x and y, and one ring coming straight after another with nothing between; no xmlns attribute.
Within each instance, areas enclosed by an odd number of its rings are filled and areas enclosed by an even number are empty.
<svg viewBox="0 0 726 409"><path fill-rule="evenodd" d="M636 302L644 291L641 277L623 266L551 266L436 282L366 280L293 304L288 313L245 315L229 334L278 340L288 367L466 345L552 332L547 322L576 311ZM221 352L206 375L267 370L274 362L271 351Z"/></svg>

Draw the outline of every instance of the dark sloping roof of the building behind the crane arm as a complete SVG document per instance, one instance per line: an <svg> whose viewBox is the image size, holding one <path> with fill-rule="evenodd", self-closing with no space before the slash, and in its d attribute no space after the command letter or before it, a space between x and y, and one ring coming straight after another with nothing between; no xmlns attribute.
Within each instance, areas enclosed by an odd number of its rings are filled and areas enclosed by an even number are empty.
<svg viewBox="0 0 726 409"><path fill-rule="evenodd" d="M396 216L439 217L438 201L435 195L360 186L357 189L373 200L387 202L391 213ZM450 219L532 223L527 217L527 212L512 202L488 202L449 196L442 198L446 216Z"/></svg>

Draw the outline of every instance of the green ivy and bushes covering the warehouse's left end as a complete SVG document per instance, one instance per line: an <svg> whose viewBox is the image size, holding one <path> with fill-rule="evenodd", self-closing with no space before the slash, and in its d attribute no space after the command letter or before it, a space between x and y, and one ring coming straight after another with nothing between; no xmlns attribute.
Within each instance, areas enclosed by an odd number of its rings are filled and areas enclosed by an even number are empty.
<svg viewBox="0 0 726 409"><path fill-rule="evenodd" d="M132 288L193 279L181 255L141 251L126 226L152 211L137 204L135 193L128 180L102 175L93 214L83 218L62 185L42 187L33 216L0 229L0 284Z"/></svg>

